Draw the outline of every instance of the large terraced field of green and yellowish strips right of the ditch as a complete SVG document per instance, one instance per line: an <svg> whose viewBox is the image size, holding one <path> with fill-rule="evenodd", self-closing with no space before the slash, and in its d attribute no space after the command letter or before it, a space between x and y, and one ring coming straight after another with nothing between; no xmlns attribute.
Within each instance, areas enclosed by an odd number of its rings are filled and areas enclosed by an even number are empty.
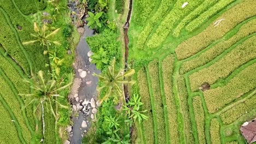
<svg viewBox="0 0 256 144"><path fill-rule="evenodd" d="M141 143L245 143L256 117L256 1L133 1Z"/></svg>

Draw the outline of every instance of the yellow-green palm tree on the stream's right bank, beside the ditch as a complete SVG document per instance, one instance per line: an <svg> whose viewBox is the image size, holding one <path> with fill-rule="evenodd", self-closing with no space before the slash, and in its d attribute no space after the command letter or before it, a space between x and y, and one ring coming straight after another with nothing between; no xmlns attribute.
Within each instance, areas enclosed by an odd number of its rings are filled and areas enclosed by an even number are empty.
<svg viewBox="0 0 256 144"><path fill-rule="evenodd" d="M115 70L115 58L110 63L105 74L94 74L98 79L103 83L103 86L97 87L97 91L100 93L103 88L106 88L106 95L101 99L100 104L109 98L110 95L115 95L120 97L123 93L121 90L123 84L133 85L135 81L129 80L129 77L135 74L134 69L130 69L127 71L124 70ZM126 78L126 80L124 79Z"/></svg>

